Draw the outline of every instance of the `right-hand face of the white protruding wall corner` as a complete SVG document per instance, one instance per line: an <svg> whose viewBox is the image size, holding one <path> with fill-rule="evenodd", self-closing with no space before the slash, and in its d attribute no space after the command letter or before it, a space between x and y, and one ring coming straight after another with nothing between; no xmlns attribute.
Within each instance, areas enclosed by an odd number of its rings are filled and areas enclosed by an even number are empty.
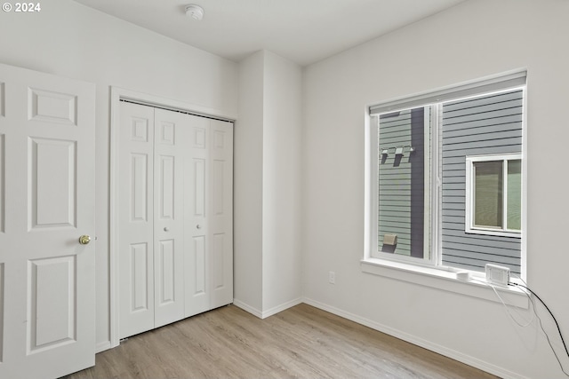
<svg viewBox="0 0 569 379"><path fill-rule="evenodd" d="M263 310L301 302L301 67L266 51Z"/></svg>

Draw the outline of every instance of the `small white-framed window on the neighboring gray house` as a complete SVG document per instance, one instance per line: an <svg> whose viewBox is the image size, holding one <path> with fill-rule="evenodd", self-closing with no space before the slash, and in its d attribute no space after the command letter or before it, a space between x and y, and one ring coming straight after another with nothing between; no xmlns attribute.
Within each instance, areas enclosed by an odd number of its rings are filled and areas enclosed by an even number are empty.
<svg viewBox="0 0 569 379"><path fill-rule="evenodd" d="M466 233L521 237L521 154L466 157Z"/></svg>

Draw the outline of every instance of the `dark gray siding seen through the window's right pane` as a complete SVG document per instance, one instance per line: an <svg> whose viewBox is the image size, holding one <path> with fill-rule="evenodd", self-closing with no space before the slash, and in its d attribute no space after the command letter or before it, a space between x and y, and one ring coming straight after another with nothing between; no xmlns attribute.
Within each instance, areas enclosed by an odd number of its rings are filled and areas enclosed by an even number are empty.
<svg viewBox="0 0 569 379"><path fill-rule="evenodd" d="M485 263L520 272L521 240L465 233L468 155L521 153L523 91L466 99L443 106L443 264L484 270Z"/></svg>

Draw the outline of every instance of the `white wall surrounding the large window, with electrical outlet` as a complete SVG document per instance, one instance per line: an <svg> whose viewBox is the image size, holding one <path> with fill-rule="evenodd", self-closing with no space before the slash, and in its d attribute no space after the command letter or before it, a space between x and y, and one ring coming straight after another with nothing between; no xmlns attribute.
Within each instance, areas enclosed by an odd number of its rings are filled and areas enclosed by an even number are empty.
<svg viewBox="0 0 569 379"><path fill-rule="evenodd" d="M364 273L359 261L365 106L526 67L527 280L569 336L568 15L566 1L467 1L305 69L302 252L309 304L498 375L564 377L535 322L519 328L499 303Z"/></svg>

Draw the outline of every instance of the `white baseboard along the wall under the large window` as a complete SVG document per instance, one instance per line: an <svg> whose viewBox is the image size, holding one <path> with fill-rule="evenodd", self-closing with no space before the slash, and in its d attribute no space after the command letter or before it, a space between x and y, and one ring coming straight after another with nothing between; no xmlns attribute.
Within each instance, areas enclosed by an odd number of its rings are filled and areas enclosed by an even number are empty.
<svg viewBox="0 0 569 379"><path fill-rule="evenodd" d="M373 320L367 320L363 317L357 316L356 314L342 311L341 309L335 308L335 307L327 305L327 304L319 303L316 300L312 300L312 299L309 299L307 297L304 297L302 299L302 302L309 304L309 305L312 305L312 306L319 308L323 311L333 313L333 314L340 316L344 319L348 319L348 320L357 322L358 324L364 325L365 327L373 328L375 330L380 331L381 333L385 333L386 335L394 336L394 337L397 337L397 338L404 340L408 343L413 343L417 346L421 346L422 348L425 348L429 351L435 351L438 354L444 355L445 357L448 357L451 359L458 360L459 362L462 362L466 365L469 365L472 367L477 367L478 369L481 369L481 370L483 370L487 373L493 374L493 375L500 376L501 378L504 378L504 379L529 379L527 376L519 375L519 374L511 372L511 371L509 371L503 367L495 366L491 363L488 363L488 362L485 362L483 360L471 357L471 356L463 354L459 351L454 351L452 349L448 349L445 346L441 346L437 343L432 343L432 342L424 340L420 337L409 335L409 334L402 332L400 330L382 325L379 322L376 322Z"/></svg>

